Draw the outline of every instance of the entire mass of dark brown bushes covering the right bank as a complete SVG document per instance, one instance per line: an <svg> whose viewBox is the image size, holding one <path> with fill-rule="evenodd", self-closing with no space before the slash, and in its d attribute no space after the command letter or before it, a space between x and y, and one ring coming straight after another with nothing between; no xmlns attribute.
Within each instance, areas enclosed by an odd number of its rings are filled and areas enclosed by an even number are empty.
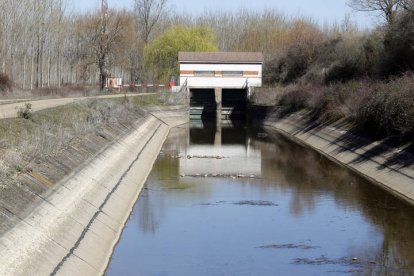
<svg viewBox="0 0 414 276"><path fill-rule="evenodd" d="M324 33L291 44L267 62L264 77L268 85L276 85L279 114L308 109L318 123L345 119L371 137L411 139L414 10L408 2L404 11L399 10L402 6L393 11L384 27Z"/></svg>

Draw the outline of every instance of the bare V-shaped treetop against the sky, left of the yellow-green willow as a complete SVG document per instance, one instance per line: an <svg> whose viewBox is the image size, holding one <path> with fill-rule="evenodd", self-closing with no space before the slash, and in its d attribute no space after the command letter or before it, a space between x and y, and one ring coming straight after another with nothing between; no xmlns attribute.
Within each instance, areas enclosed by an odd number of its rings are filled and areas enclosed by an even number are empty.
<svg viewBox="0 0 414 276"><path fill-rule="evenodd" d="M135 0L137 23L141 27L142 40L148 43L154 26L160 19L168 0ZM139 28L138 28L139 29Z"/></svg>

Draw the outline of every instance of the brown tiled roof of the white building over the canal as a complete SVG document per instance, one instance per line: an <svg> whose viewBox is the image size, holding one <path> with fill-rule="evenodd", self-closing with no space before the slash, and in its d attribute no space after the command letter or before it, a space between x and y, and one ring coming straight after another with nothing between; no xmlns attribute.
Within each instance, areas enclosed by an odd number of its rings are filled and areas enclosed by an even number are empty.
<svg viewBox="0 0 414 276"><path fill-rule="evenodd" d="M179 62L263 63L260 52L180 52Z"/></svg>

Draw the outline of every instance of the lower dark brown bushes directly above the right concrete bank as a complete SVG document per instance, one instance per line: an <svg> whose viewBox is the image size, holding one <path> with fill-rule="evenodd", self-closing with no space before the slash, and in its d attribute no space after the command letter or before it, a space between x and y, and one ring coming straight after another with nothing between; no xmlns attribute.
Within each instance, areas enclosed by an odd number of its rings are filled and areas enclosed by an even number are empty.
<svg viewBox="0 0 414 276"><path fill-rule="evenodd" d="M373 136L414 135L414 75L382 81L285 88L279 101L282 114L308 109L319 123L342 118Z"/></svg>

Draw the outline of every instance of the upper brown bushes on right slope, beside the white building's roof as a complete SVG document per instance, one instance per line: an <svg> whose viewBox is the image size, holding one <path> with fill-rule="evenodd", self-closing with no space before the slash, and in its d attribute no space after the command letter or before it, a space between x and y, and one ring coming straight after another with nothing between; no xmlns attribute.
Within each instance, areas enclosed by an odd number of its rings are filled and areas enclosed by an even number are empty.
<svg viewBox="0 0 414 276"><path fill-rule="evenodd" d="M276 59L266 62L264 82L331 84L384 76L383 31L317 37L294 43Z"/></svg>

